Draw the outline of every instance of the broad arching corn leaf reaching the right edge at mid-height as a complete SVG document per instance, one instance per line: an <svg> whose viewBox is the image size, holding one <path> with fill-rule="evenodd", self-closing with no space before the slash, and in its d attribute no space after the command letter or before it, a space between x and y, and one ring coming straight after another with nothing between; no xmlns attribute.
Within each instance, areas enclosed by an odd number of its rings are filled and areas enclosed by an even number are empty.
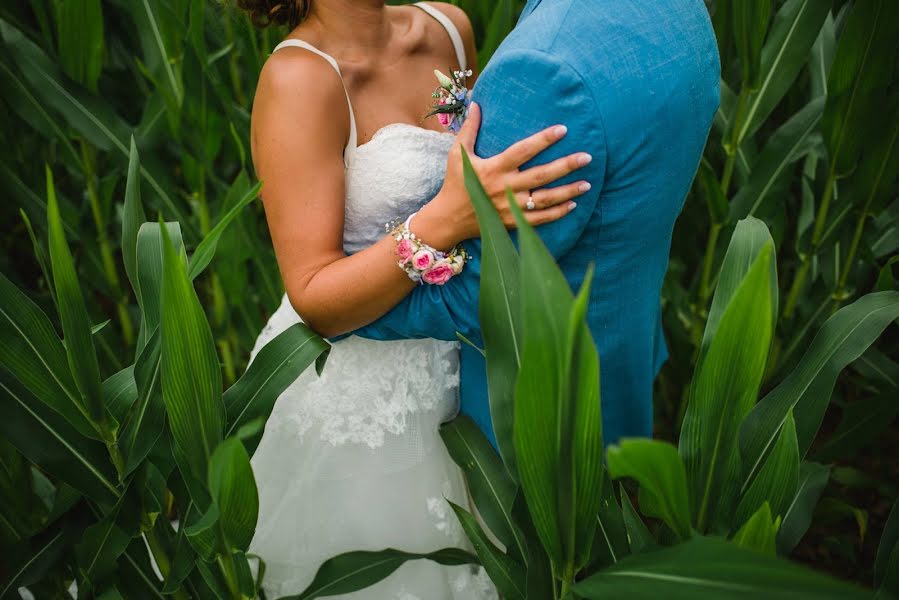
<svg viewBox="0 0 899 600"><path fill-rule="evenodd" d="M740 426L745 489L774 446L790 409L796 419L799 456L821 425L837 375L899 318L899 292L876 292L840 309L818 331L799 364L753 408Z"/></svg>

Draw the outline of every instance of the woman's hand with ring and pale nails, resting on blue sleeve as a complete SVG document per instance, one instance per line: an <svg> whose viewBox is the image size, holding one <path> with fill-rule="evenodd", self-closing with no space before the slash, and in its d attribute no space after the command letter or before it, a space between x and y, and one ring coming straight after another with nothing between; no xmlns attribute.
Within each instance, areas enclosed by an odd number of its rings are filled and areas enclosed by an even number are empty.
<svg viewBox="0 0 899 600"><path fill-rule="evenodd" d="M491 158L478 158L474 153L474 146L480 123L480 107L472 104L465 125L450 150L443 187L415 217L413 231L431 245L449 248L480 235L474 207L465 189L463 148L468 153L484 190L509 229L515 227L515 218L509 206L507 188L515 193L518 205L525 209L524 216L532 225L561 219L577 206L573 199L590 190L590 184L586 181L553 188L544 187L590 164L592 157L584 152L523 171L520 169L521 165L565 137L567 129L564 126L556 125L545 129ZM534 204L532 210L526 208L529 201Z"/></svg>

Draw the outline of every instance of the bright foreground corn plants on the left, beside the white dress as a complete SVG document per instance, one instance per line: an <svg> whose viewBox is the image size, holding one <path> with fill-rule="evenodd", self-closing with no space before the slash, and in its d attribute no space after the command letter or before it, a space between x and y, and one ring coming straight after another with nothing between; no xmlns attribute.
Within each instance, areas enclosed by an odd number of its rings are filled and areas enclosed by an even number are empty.
<svg viewBox="0 0 899 600"><path fill-rule="evenodd" d="M48 267L62 339L0 276L4 466L18 498L39 499L4 507L2 597L19 587L58 593L69 582L78 597L256 597L246 556L258 510L249 457L278 395L327 355L321 338L293 326L223 392L193 281L259 185L238 179L245 189L188 261L178 223L144 222L133 140L129 156L121 247L140 307L129 366L100 376L94 340L105 324L88 315L49 169Z"/></svg>

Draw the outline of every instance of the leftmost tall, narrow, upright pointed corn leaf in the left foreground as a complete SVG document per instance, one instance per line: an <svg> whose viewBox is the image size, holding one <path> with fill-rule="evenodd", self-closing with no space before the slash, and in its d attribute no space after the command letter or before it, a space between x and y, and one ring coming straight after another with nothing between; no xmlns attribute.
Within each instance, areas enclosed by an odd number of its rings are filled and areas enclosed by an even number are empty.
<svg viewBox="0 0 899 600"><path fill-rule="evenodd" d="M59 306L59 320L66 340L66 355L75 385L81 393L81 403L101 434L112 439L115 424L103 404L100 390L100 367L91 336L91 321L81 295L78 273L69 252L59 203L53 186L53 175L47 168L47 229L49 232L50 264Z"/></svg>

